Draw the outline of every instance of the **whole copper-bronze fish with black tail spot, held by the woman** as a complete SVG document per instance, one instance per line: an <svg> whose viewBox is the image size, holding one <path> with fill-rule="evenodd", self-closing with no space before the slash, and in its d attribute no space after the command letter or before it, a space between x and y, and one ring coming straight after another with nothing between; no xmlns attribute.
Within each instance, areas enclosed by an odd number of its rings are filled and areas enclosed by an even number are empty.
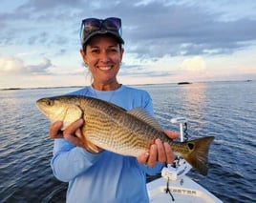
<svg viewBox="0 0 256 203"><path fill-rule="evenodd" d="M83 118L85 125L80 138L87 146L93 143L111 152L137 157L142 152L148 152L155 140L160 138L200 173L207 173L207 154L213 136L175 142L165 135L155 118L143 109L125 111L109 102L86 96L42 98L36 104L52 123L63 121L62 130Z"/></svg>

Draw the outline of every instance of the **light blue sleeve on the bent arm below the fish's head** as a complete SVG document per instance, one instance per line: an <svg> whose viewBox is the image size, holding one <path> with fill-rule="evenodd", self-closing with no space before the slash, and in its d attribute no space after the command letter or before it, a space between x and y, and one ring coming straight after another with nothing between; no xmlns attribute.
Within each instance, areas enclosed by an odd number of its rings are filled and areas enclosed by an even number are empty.
<svg viewBox="0 0 256 203"><path fill-rule="evenodd" d="M59 180L68 182L93 166L99 156L100 153L87 152L65 139L54 139L51 160L53 174Z"/></svg>

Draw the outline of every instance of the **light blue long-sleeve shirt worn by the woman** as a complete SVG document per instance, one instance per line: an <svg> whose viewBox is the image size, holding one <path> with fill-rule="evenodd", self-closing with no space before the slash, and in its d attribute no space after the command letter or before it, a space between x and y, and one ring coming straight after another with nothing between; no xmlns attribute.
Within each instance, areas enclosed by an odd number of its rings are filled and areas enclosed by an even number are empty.
<svg viewBox="0 0 256 203"><path fill-rule="evenodd" d="M96 97L125 110L140 107L154 114L148 92L127 86L116 91L96 91L90 86L71 94ZM69 182L67 202L144 203L149 202L145 174L159 173L162 164L150 168L139 164L136 157L109 151L91 153L65 139L55 139L51 167L56 178Z"/></svg>

